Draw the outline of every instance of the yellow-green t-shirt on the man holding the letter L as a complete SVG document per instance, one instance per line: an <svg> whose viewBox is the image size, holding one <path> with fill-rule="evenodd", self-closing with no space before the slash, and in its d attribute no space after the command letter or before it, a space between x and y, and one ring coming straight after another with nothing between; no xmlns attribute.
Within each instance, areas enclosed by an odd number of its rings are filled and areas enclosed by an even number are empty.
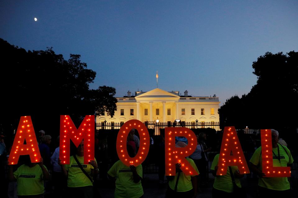
<svg viewBox="0 0 298 198"><path fill-rule="evenodd" d="M280 162L278 161L278 149L272 148L273 153L273 167L287 167L287 164L293 163L293 157L291 155L290 150L284 146L284 149L280 144L277 144L280 153ZM286 153L286 151L287 153ZM259 170L262 171L262 155L261 155L262 147L259 147L255 150L253 156L250 159L250 162L256 166L258 166ZM260 187L268 188L271 190L284 191L290 189L290 183L287 177L267 177L260 178L259 184Z"/></svg>

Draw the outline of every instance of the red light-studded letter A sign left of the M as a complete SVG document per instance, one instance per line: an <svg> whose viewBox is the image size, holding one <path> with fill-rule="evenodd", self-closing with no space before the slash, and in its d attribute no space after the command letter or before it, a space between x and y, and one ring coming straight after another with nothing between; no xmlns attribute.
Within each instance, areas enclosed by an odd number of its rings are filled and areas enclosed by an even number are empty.
<svg viewBox="0 0 298 198"><path fill-rule="evenodd" d="M26 144L24 144L25 140ZM30 155L32 163L39 162L41 157L30 116L22 116L20 119L16 137L9 154L9 164L17 164L20 155Z"/></svg>

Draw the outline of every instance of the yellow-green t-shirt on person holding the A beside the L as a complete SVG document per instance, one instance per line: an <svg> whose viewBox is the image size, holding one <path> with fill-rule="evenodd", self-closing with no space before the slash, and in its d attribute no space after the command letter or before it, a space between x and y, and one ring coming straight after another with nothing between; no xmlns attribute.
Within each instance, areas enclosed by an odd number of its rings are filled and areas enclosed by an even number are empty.
<svg viewBox="0 0 298 198"><path fill-rule="evenodd" d="M219 159L219 154L215 155L212 165L211 165L211 170L215 170L215 166L218 165L218 159ZM237 166L231 166L232 172L235 173L236 170L238 169ZM234 177L235 178L235 177ZM241 188L241 183L240 179L235 178L235 183L238 187ZM232 178L230 174L229 167L227 167L227 174L225 175L217 175L214 179L213 183L213 188L224 191L224 192L233 192L233 183L232 183Z"/></svg>

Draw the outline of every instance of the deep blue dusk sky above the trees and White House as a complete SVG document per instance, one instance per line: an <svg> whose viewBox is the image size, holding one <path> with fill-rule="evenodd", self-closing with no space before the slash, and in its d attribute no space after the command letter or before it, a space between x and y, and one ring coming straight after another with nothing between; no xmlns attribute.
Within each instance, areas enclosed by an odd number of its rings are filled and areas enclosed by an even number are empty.
<svg viewBox="0 0 298 198"><path fill-rule="evenodd" d="M298 1L2 0L0 37L80 54L97 73L90 88L115 87L117 97L156 88L158 70L158 88L224 103L256 84L259 56L298 51L297 16Z"/></svg>

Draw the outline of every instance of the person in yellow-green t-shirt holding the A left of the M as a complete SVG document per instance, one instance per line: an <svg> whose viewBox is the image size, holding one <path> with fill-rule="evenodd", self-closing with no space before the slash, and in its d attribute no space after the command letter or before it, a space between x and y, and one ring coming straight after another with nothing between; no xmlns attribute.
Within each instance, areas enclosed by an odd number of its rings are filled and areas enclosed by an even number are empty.
<svg viewBox="0 0 298 198"><path fill-rule="evenodd" d="M24 156L25 164L13 172L13 165L9 166L9 180L17 181L17 195L19 198L43 198L44 180L50 179L48 169L43 164L43 158L38 163L31 163L29 155Z"/></svg>

